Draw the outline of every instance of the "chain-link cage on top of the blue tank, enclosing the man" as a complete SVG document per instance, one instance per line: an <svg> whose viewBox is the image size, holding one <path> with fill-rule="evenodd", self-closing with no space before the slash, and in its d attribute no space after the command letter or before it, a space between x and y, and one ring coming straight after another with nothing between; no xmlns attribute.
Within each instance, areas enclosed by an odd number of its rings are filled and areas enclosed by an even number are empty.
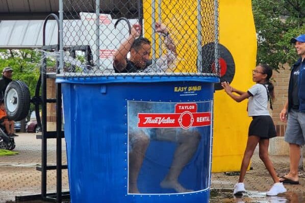
<svg viewBox="0 0 305 203"><path fill-rule="evenodd" d="M219 77L217 0L61 0L60 4L65 77Z"/></svg>

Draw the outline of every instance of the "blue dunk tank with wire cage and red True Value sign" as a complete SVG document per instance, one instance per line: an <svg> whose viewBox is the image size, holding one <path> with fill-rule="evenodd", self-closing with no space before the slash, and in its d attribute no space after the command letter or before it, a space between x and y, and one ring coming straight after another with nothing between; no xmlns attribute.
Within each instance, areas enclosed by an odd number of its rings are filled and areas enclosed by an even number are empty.
<svg viewBox="0 0 305 203"><path fill-rule="evenodd" d="M218 1L62 0L59 13L71 202L208 202ZM135 24L147 66L115 71L124 48L137 63Z"/></svg>

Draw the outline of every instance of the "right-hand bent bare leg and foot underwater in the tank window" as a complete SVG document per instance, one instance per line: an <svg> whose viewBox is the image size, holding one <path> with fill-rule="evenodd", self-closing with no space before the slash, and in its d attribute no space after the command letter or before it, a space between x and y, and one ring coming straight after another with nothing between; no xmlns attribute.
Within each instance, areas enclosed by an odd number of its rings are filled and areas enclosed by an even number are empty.
<svg viewBox="0 0 305 203"><path fill-rule="evenodd" d="M200 135L196 131L188 131L183 130L179 135L174 134L172 132L164 130L162 135L163 140L171 140L176 141L178 146L175 150L173 161L171 167L165 176L164 180L160 183L162 188L172 188L176 192L191 192L193 190L189 190L184 188L179 182L178 177L186 166L186 164L192 159L195 151L197 150ZM160 138L159 136L157 138ZM161 138L160 138L161 139Z"/></svg>

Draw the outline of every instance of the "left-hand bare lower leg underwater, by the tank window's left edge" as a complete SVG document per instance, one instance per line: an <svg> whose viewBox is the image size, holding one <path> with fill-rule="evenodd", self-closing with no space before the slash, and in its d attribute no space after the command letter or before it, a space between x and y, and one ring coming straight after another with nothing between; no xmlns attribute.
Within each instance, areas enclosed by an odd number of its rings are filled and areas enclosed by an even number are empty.
<svg viewBox="0 0 305 203"><path fill-rule="evenodd" d="M129 193L140 193L138 190L138 175L144 160L149 137L143 132L131 133L129 142L132 149L129 153Z"/></svg>

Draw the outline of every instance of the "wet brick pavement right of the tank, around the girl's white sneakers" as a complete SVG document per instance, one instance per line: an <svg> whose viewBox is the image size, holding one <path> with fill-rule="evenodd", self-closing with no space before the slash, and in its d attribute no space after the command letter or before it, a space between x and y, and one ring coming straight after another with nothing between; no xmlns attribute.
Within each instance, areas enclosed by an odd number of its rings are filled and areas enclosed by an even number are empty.
<svg viewBox="0 0 305 203"><path fill-rule="evenodd" d="M289 171L289 157L287 156L271 156L274 168L278 176L282 176ZM305 161L305 159L303 160ZM305 162L303 162L305 164ZM304 165L305 166L305 165ZM238 181L238 175L226 175L225 173L212 173L212 187L214 189L221 188L221 192L217 193L217 197L212 198L211 202L261 202L261 203L277 203L305 202L305 172L299 172L299 185L285 185L288 192L278 197L266 197L266 192L270 189L273 181L265 168L263 162L259 159L258 151L252 158L252 170L247 171L245 176L245 189L249 191L243 198L232 198L233 187ZM227 192L225 192L227 191ZM224 193L222 195L221 193ZM215 195L214 195L215 196Z"/></svg>

